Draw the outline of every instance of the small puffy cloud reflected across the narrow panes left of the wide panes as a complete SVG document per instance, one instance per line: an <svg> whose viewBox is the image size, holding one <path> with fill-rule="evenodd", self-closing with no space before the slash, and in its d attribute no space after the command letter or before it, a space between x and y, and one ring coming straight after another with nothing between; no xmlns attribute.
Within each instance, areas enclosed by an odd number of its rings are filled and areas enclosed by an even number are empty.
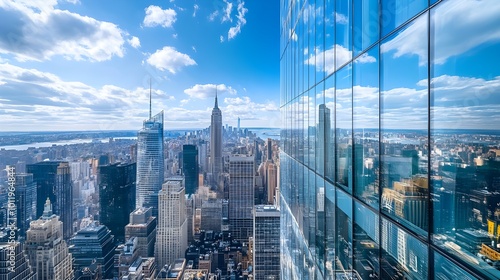
<svg viewBox="0 0 500 280"><path fill-rule="evenodd" d="M327 73L333 73L335 71L335 65L333 63L335 58L335 48L337 49L337 61L338 62L346 62L349 61L352 57L352 51L348 50L344 46L335 45L334 47L326 50L320 51L318 48L315 49L315 53L311 54L306 61L304 61L307 65L316 65L316 71L324 71ZM323 60L323 57L325 58ZM364 53L359 58L356 59L356 63L373 63L377 62L377 59L373 56L369 56L367 53Z"/></svg>

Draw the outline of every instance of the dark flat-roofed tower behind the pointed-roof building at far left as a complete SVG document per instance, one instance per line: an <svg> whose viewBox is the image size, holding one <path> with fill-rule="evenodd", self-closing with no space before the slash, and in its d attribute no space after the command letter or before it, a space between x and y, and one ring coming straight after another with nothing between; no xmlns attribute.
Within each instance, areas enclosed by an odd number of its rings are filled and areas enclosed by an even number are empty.
<svg viewBox="0 0 500 280"><path fill-rule="evenodd" d="M47 198L53 212L61 217L63 236L68 240L73 235L74 215L73 184L68 162L43 161L26 165L26 172L33 174L36 182L37 217L42 216Z"/></svg>

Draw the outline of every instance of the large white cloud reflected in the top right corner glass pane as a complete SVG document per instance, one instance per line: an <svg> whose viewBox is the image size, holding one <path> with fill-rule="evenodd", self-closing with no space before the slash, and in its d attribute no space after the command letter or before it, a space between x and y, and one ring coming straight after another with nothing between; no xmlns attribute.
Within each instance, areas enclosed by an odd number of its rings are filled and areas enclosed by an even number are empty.
<svg viewBox="0 0 500 280"><path fill-rule="evenodd" d="M434 37L434 46L439 46L434 48L437 64L486 42L500 41L498 0L447 1L440 4L434 14L431 24L435 34L439 34Z"/></svg>

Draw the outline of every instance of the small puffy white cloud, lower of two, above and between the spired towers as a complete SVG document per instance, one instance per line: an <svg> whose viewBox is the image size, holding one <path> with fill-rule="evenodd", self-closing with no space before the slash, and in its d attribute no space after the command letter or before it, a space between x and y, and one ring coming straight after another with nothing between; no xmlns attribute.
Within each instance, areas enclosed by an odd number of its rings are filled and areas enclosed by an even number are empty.
<svg viewBox="0 0 500 280"><path fill-rule="evenodd" d="M180 53L170 46L157 50L146 61L151 66L162 71L167 70L172 74L175 74L182 67L196 65L196 62L189 55Z"/></svg>

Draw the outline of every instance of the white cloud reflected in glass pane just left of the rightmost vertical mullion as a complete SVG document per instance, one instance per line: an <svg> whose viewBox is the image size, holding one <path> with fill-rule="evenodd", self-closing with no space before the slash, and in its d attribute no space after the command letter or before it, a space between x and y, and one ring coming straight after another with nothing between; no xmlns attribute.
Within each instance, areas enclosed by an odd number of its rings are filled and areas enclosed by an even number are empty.
<svg viewBox="0 0 500 280"><path fill-rule="evenodd" d="M393 57L403 55L418 55L419 65L427 64L427 17L421 16L413 21L406 29L397 34L392 40L380 46L381 53L395 51Z"/></svg>

